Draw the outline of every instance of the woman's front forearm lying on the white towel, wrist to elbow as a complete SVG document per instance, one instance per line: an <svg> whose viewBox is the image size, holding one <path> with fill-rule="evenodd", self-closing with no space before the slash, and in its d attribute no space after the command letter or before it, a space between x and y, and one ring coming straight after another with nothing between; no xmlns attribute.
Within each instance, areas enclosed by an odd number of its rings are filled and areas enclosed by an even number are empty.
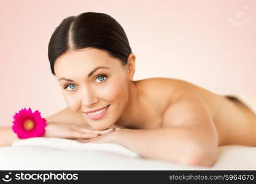
<svg viewBox="0 0 256 184"><path fill-rule="evenodd" d="M197 140L201 139L200 135ZM202 137L204 140L208 137ZM190 164L193 159L196 161L198 156L196 152L197 141L195 134L185 128L158 128L158 129L120 129L118 137L115 140L118 144L138 153L144 158L161 159L177 163ZM202 140L202 143L204 142ZM206 144L204 144L205 146ZM203 146L202 146L203 148ZM206 145L209 157L204 163L194 162L193 165L211 166L214 163L217 148L215 145ZM198 149L200 150L200 149Z"/></svg>

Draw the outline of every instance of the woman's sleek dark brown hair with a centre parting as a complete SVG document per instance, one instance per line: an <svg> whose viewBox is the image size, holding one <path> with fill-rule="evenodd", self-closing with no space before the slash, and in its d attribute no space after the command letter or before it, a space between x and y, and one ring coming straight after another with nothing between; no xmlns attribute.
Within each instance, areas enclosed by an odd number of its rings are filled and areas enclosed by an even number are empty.
<svg viewBox="0 0 256 184"><path fill-rule="evenodd" d="M68 50L86 47L105 50L122 64L127 64L131 47L122 26L105 13L85 12L64 18L57 26L48 44L48 59L55 75L56 58Z"/></svg>

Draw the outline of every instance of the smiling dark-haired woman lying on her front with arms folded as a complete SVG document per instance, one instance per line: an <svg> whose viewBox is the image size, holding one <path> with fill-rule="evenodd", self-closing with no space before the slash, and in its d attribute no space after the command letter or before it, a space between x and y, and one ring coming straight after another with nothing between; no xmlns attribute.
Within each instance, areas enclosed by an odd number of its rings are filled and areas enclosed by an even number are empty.
<svg viewBox="0 0 256 184"><path fill-rule="evenodd" d="M105 13L65 18L48 58L68 107L46 118L45 137L117 143L195 166L212 166L219 145L256 145L256 117L241 102L184 80L133 81L136 56Z"/></svg>

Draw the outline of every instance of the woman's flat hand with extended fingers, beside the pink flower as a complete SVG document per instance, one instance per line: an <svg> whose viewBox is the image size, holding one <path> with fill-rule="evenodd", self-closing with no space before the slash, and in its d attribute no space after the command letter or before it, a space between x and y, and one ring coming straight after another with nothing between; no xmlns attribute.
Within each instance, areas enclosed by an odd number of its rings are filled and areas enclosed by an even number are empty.
<svg viewBox="0 0 256 184"><path fill-rule="evenodd" d="M85 125L68 123L47 123L44 137L58 137L63 139L91 139L99 135L114 131L114 128L98 131Z"/></svg>

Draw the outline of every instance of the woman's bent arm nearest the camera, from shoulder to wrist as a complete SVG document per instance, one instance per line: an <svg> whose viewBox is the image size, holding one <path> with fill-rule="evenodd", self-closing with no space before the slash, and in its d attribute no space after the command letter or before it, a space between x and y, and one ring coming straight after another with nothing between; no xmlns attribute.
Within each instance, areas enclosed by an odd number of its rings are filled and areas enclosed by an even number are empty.
<svg viewBox="0 0 256 184"><path fill-rule="evenodd" d="M211 113L198 94L186 93L163 114L162 128L121 129L115 139L145 158L212 166L218 134Z"/></svg>

